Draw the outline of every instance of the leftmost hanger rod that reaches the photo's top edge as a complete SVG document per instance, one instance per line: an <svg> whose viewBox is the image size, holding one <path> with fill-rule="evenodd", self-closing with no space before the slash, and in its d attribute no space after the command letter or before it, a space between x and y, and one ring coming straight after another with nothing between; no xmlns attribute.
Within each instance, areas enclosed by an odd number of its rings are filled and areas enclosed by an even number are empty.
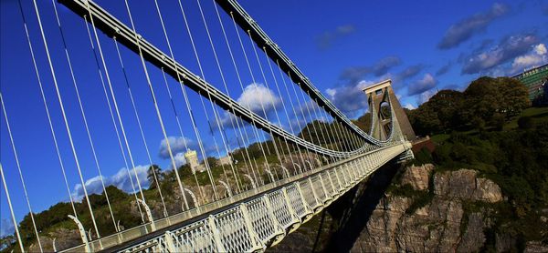
<svg viewBox="0 0 548 253"><path fill-rule="evenodd" d="M59 151L57 135L55 134L55 129L53 128L53 123L51 122L51 115L49 115L49 108L47 107L47 99L44 94L44 87L42 86L42 78L40 77L40 74L38 72L37 59L34 54L32 43L30 42L30 35L28 34L28 28L26 26L26 17L23 12L23 6L21 5L21 0L19 0L18 3L19 3L19 11L21 12L21 16L23 18L23 25L25 26L26 42L28 43L28 49L30 51L30 56L32 57L32 64L34 66L35 74L37 75L37 83L40 88L40 95L42 96L42 102L44 103L44 108L46 108L47 123L49 124L49 130L53 137L53 143L55 146L55 150L57 152L59 166L61 167L61 173L65 181L65 187L67 187L68 199L70 200L70 207L72 207L74 217L78 218L76 207L74 207L74 200L72 199L72 194L70 194L70 187L68 186L68 179L67 179L67 173L65 171L65 165L63 163L63 159L61 159L61 152Z"/></svg>

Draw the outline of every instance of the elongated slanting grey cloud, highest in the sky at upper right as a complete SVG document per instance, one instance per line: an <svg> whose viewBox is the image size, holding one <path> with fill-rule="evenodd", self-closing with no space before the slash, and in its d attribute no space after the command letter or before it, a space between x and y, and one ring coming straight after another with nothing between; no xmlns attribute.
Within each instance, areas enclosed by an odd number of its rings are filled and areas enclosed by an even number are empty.
<svg viewBox="0 0 548 253"><path fill-rule="evenodd" d="M449 49L469 40L473 35L485 31L485 28L498 17L505 15L510 10L508 5L495 3L487 12L471 15L457 24L451 25L443 35L437 47Z"/></svg>

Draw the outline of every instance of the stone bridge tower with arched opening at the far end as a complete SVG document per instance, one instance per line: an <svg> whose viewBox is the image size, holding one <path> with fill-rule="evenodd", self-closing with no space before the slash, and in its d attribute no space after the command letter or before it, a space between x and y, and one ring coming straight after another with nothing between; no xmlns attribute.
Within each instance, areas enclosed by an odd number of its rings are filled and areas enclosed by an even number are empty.
<svg viewBox="0 0 548 253"><path fill-rule="evenodd" d="M391 79L365 87L364 93L367 96L369 112L372 116L371 136L382 140L387 139L391 131L390 114L394 113L404 136L410 141L416 138L406 112L392 89ZM392 106L392 110L390 110L390 106Z"/></svg>

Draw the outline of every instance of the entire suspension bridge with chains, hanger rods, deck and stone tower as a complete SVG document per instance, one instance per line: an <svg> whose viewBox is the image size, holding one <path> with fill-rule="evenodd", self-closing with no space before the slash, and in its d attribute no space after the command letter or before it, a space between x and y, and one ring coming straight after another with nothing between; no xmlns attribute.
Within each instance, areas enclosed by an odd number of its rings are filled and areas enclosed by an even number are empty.
<svg viewBox="0 0 548 253"><path fill-rule="evenodd" d="M13 224L17 210L26 208L33 228L22 237L15 226L17 250L27 251L31 243L62 252L261 251L379 167L413 157L415 134L390 80L364 89L371 114L365 131L235 0L149 0L144 10L127 0L111 2L19 1L13 10L34 74L28 85L39 92L36 110L47 119L41 124L47 140L37 151L54 150L44 166L65 188L72 207L65 222L78 228L81 239L62 248L55 239L47 245L40 234L44 228L26 183L36 175L20 154L28 143L16 138L32 127L10 125L25 116L10 108L29 105L16 99L23 94L4 88L2 134L10 150L2 149L2 156L15 161L0 165L5 201ZM166 179L155 169L148 188L139 176L139 164L153 168L153 137L163 139L173 187L163 187ZM202 161L180 175L181 155L192 149ZM110 161L125 168L132 207L117 208L107 194ZM88 189L90 177L100 181L99 192ZM93 194L104 198L108 211L92 204ZM140 224L122 228L117 216L132 210Z"/></svg>

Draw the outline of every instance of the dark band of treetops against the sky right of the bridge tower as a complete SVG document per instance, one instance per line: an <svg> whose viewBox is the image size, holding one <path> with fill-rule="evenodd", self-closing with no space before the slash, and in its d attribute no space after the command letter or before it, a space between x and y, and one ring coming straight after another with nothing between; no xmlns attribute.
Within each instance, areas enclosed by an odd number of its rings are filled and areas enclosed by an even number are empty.
<svg viewBox="0 0 548 253"><path fill-rule="evenodd" d="M480 77L464 92L441 90L415 110L407 111L416 135L426 136L485 127L505 121L531 105L527 87L510 77Z"/></svg>

